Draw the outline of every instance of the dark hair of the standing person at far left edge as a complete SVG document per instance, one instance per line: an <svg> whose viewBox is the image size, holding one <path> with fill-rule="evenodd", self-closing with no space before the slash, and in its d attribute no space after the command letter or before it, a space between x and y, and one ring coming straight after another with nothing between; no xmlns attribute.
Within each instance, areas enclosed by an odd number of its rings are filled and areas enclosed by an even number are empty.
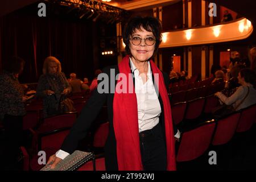
<svg viewBox="0 0 256 182"><path fill-rule="evenodd" d="M23 71L25 61L18 56L9 57L3 64L3 69L10 73L21 73Z"/></svg>

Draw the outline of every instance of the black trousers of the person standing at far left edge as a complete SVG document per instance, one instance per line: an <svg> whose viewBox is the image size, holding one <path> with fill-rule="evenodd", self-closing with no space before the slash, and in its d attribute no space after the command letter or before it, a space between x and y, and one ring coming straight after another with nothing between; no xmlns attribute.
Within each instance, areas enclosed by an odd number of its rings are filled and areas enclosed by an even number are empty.
<svg viewBox="0 0 256 182"><path fill-rule="evenodd" d="M3 118L5 129L1 165L5 170L16 170L18 165L19 147L22 143L23 116L8 115ZM1 168L2 168L1 167Z"/></svg>

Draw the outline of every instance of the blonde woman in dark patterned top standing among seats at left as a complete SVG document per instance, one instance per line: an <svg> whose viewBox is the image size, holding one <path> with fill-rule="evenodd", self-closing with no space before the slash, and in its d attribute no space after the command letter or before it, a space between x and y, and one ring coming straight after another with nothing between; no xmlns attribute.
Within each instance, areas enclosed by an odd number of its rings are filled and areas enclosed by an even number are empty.
<svg viewBox="0 0 256 182"><path fill-rule="evenodd" d="M59 103L65 99L65 95L71 92L64 73L61 72L60 61L53 56L44 60L43 75L38 81L36 96L43 98L43 116L58 114Z"/></svg>

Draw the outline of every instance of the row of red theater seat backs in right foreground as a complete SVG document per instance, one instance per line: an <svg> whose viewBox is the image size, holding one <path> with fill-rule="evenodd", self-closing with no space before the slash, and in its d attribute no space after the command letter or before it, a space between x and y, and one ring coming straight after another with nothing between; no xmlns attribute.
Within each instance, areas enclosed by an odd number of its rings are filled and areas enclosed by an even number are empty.
<svg viewBox="0 0 256 182"><path fill-rule="evenodd" d="M256 123L256 105L185 130L181 133L176 160L177 162L187 162L199 158L210 145L224 145L230 142L234 134L249 131L254 123Z"/></svg>

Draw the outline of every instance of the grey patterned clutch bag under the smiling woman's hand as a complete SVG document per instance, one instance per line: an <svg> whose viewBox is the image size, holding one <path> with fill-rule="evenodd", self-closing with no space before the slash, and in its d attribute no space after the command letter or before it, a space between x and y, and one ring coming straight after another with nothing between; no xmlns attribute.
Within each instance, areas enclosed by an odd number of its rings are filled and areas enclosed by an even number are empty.
<svg viewBox="0 0 256 182"><path fill-rule="evenodd" d="M93 160L93 168L95 169L95 159L92 152L83 152L76 150L71 155L68 155L65 159L61 160L59 164L56 165L54 169L49 168L48 165L44 166L40 171L74 171L82 164Z"/></svg>

